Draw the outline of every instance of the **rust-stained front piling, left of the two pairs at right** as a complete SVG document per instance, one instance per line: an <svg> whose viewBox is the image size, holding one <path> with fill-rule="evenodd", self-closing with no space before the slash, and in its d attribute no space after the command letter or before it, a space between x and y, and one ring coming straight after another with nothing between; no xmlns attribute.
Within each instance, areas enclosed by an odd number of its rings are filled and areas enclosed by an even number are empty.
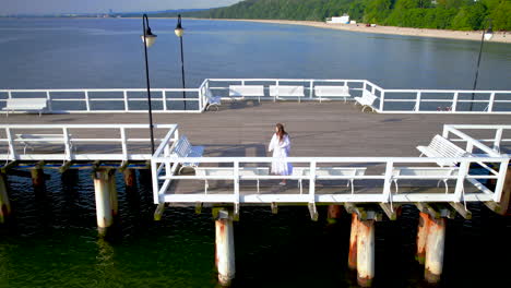
<svg viewBox="0 0 511 288"><path fill-rule="evenodd" d="M357 226L357 281L370 287L375 278L375 220L363 220Z"/></svg>

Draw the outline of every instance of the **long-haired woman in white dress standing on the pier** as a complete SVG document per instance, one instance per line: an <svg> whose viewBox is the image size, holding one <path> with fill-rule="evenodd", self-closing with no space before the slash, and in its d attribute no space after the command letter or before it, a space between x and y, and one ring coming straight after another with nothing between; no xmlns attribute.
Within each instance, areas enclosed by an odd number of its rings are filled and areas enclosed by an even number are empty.
<svg viewBox="0 0 511 288"><path fill-rule="evenodd" d="M272 141L270 141L270 145L268 147L269 152L273 151L274 158L281 158L272 161L272 173L283 176L293 173L293 165L284 159L289 156L289 135L284 130L284 125L277 123L275 125L275 134L273 134ZM286 179L282 180L280 184L285 185Z"/></svg>

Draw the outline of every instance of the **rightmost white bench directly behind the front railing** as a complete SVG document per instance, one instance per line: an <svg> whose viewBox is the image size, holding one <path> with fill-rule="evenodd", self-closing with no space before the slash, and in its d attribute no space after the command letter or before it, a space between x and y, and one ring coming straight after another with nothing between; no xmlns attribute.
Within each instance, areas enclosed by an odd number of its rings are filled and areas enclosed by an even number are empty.
<svg viewBox="0 0 511 288"><path fill-rule="evenodd" d="M395 185L395 193L399 192L397 180L400 179L400 177L419 176L428 180L438 180L437 187L440 184L440 181L443 181L443 183L445 184L447 194L449 192L448 180L455 179L459 172L460 169L457 167L394 167L392 170L392 181Z"/></svg>

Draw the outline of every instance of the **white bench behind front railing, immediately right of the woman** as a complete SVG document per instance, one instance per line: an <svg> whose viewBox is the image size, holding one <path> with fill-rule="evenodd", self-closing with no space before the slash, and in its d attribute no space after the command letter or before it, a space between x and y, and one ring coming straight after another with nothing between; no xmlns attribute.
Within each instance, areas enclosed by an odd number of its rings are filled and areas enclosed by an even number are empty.
<svg viewBox="0 0 511 288"><path fill-rule="evenodd" d="M318 167L316 168L316 180L335 180L346 179L346 177L364 176L366 173L366 167ZM310 177L310 168L308 167L293 167L293 176L301 177L298 179L298 187L300 188L300 194L304 193L304 187L301 181L308 180ZM352 185L352 194L355 192L354 178L347 179L346 187Z"/></svg>

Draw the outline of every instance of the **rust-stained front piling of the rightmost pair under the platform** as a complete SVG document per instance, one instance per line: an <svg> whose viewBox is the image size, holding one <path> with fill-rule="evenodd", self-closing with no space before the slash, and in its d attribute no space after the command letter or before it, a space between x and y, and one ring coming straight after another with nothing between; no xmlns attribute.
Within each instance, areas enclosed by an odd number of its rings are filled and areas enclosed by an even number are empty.
<svg viewBox="0 0 511 288"><path fill-rule="evenodd" d="M445 218L430 218L426 245L425 278L430 284L440 280L443 268L443 249L445 244Z"/></svg>

